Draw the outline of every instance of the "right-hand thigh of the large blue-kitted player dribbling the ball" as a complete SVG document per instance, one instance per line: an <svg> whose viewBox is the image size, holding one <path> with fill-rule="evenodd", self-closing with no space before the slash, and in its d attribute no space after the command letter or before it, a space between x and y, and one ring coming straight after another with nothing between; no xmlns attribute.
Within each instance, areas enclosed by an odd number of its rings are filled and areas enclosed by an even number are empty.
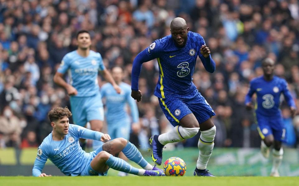
<svg viewBox="0 0 299 186"><path fill-rule="evenodd" d="M216 114L202 95L197 93L195 97L187 100L187 105L196 117L200 127L205 128L205 126L214 126L210 118Z"/></svg>

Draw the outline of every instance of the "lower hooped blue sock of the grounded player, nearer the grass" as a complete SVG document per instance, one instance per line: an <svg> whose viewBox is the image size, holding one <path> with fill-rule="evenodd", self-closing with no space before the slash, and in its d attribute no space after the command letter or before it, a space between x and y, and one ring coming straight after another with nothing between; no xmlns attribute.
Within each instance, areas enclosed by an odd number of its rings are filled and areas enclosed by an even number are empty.
<svg viewBox="0 0 299 186"><path fill-rule="evenodd" d="M139 173L139 169L132 167L125 160L112 155L110 155L109 159L106 161L106 165L114 170L119 170L130 174L138 175Z"/></svg>

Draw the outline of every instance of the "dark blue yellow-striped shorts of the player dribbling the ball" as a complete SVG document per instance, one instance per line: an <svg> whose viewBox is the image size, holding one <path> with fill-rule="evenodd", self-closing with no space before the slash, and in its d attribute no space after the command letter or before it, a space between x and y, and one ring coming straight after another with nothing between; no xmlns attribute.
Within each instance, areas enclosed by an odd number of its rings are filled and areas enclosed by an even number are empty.
<svg viewBox="0 0 299 186"><path fill-rule="evenodd" d="M205 98L196 92L192 98L167 97L158 98L168 121L173 125L179 125L180 120L187 114L193 113L198 123L203 123L210 117L215 116L213 109Z"/></svg>

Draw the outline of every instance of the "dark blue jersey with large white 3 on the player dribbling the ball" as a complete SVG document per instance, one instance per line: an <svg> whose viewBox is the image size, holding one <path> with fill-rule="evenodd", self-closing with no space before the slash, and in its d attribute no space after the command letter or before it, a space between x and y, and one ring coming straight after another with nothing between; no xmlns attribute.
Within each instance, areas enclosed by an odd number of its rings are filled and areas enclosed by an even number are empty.
<svg viewBox="0 0 299 186"><path fill-rule="evenodd" d="M178 48L171 35L154 41L147 48L150 58L157 58L159 64L159 81L154 95L164 98L168 95L194 95L196 86L192 82L192 75L197 56L202 56L200 48L205 44L199 33L189 31L186 45ZM203 57L203 56L202 56Z"/></svg>

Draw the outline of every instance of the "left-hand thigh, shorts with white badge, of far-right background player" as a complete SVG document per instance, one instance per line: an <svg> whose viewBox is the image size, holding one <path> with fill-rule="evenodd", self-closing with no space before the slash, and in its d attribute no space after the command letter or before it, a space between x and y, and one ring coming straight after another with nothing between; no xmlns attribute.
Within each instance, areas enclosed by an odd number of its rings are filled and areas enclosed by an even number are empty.
<svg viewBox="0 0 299 186"><path fill-rule="evenodd" d="M261 139L265 139L267 136L273 135L269 120L269 117L256 114L256 121L258 123L257 129Z"/></svg>

